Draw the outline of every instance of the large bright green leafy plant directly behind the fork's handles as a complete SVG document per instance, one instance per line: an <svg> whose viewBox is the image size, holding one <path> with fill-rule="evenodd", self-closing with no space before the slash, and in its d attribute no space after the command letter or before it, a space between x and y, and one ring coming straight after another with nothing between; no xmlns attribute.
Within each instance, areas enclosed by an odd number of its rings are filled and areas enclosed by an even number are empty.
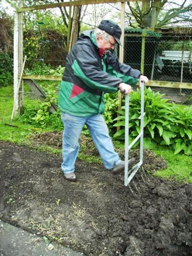
<svg viewBox="0 0 192 256"><path fill-rule="evenodd" d="M155 127L157 127L159 135L162 135L163 126L169 124L170 117L168 116L170 111L170 104L166 99L162 99L162 94L154 93L150 88L145 89L145 115L144 115L144 135L148 137L151 135L154 138ZM141 93L138 89L137 92L132 92L130 95L130 138L137 137L140 133L140 114L141 114ZM117 122L114 126L125 126L125 106L122 107L119 117L115 118ZM162 121L162 118L164 121ZM121 129L114 134L114 138L124 139L125 130Z"/></svg>

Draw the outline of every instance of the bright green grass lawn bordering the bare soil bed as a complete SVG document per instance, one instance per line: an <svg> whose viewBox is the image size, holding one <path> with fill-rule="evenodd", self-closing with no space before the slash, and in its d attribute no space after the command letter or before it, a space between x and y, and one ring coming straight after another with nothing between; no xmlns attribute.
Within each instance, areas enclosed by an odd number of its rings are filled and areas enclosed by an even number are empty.
<svg viewBox="0 0 192 256"><path fill-rule="evenodd" d="M25 92L28 89L25 89ZM36 99L28 97L30 94L25 94L25 107L38 106L40 102ZM30 145L29 137L35 133L45 132L44 129L34 128L31 125L23 124L17 117L10 122L13 108L13 86L0 87L0 139L18 144ZM10 126L14 125L14 126ZM16 126L16 127L15 127ZM53 150L50 147L39 148L57 152L60 150ZM88 150L89 151L89 150ZM157 155L162 156L167 161L167 169L157 171L154 175L165 179L175 179L181 182L192 182L192 157L183 154L174 155L173 150L169 147L158 146L153 150ZM85 150L86 152L86 150ZM79 154L79 157L85 161L95 161L94 157L86 156L86 154ZM96 159L98 162L98 158Z"/></svg>

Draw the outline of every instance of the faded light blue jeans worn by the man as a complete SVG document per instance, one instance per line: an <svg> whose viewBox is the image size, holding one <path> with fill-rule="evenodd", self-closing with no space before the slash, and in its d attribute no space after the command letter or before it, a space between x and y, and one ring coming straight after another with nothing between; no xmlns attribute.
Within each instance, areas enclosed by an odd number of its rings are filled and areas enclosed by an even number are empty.
<svg viewBox="0 0 192 256"><path fill-rule="evenodd" d="M79 150L78 139L85 124L106 169L112 169L121 163L121 159L114 150L107 124L101 114L81 117L62 113L61 120L64 125L62 139L63 162L61 164L63 173L67 174L75 171L75 161Z"/></svg>

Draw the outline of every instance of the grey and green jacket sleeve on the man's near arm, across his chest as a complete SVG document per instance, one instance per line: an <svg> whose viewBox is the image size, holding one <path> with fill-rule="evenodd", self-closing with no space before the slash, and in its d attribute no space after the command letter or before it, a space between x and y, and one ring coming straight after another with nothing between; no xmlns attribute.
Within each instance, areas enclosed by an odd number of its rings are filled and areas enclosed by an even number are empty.
<svg viewBox="0 0 192 256"><path fill-rule="evenodd" d="M92 47L87 45L78 46L74 52L73 69L74 75L79 77L91 89L103 92L115 93L118 91L118 84L123 82L120 77L110 76L101 67L101 59Z"/></svg>

